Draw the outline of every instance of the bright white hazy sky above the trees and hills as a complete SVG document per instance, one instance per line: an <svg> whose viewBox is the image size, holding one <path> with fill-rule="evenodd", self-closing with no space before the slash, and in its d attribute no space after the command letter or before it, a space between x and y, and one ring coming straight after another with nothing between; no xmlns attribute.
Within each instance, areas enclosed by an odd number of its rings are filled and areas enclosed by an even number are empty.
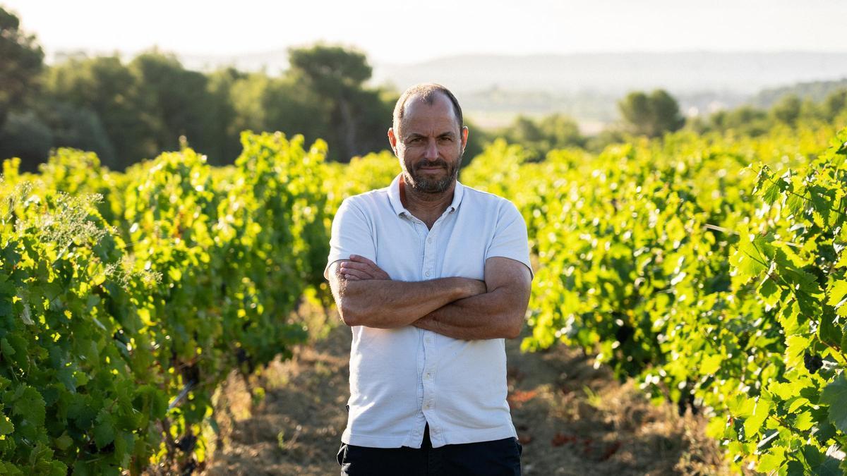
<svg viewBox="0 0 847 476"><path fill-rule="evenodd" d="M843 0L0 0L47 53L264 53L311 42L375 63L458 53L847 52Z"/></svg>

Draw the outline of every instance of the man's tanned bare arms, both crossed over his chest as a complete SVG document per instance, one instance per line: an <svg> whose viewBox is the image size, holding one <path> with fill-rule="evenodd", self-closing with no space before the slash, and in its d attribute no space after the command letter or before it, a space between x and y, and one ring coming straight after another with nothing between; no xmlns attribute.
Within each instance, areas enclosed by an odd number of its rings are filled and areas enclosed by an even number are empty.
<svg viewBox="0 0 847 476"><path fill-rule="evenodd" d="M357 255L329 268L329 285L347 325L413 325L463 340L518 337L529 304L529 268L507 257L490 257L484 278L395 281Z"/></svg>

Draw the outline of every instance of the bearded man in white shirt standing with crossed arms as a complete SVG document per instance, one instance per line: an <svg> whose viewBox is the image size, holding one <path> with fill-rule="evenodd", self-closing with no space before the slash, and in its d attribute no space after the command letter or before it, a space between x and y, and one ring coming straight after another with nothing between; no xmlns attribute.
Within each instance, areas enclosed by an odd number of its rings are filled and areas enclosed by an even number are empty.
<svg viewBox="0 0 847 476"><path fill-rule="evenodd" d="M457 181L468 128L444 86L405 91L388 139L402 172L341 204L324 271L353 339L341 474L520 474L504 339L529 302L526 225Z"/></svg>

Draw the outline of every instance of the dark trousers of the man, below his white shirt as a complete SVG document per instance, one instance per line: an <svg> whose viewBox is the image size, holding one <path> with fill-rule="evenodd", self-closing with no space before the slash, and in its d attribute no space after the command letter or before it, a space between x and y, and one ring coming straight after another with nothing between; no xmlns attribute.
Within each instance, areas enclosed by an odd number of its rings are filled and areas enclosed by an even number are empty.
<svg viewBox="0 0 847 476"><path fill-rule="evenodd" d="M369 448L342 443L341 476L520 476L523 448L515 438L433 448L429 425L420 448Z"/></svg>

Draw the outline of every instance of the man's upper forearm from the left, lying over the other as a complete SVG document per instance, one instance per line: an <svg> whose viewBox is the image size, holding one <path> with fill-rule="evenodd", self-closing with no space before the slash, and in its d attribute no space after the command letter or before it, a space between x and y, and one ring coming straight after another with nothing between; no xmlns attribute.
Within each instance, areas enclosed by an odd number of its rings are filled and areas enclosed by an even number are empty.
<svg viewBox="0 0 847 476"><path fill-rule="evenodd" d="M484 290L482 281L467 278L343 280L336 304L347 325L390 329L412 324L446 304Z"/></svg>

